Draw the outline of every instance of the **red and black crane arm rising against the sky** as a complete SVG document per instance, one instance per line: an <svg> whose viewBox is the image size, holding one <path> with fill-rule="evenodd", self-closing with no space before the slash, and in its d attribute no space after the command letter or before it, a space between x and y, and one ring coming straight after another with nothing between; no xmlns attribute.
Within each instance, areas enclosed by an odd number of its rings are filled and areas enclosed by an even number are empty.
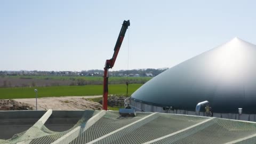
<svg viewBox="0 0 256 144"><path fill-rule="evenodd" d="M119 36L116 41L113 57L109 60L106 60L106 63L105 63L104 76L103 76L103 102L102 102L102 108L104 110L108 110L108 69L113 68L115 64L118 52L120 50L120 47L124 39L124 35L129 26L130 26L129 20L123 22L123 26L120 30Z"/></svg>

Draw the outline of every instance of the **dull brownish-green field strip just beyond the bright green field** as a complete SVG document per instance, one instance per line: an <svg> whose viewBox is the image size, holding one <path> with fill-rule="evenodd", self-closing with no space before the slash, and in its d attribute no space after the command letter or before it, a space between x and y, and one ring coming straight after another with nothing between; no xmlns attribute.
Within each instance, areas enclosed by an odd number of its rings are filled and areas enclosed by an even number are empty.
<svg viewBox="0 0 256 144"><path fill-rule="evenodd" d="M152 77L109 77L109 84L144 84ZM0 76L0 87L102 85L101 76Z"/></svg>

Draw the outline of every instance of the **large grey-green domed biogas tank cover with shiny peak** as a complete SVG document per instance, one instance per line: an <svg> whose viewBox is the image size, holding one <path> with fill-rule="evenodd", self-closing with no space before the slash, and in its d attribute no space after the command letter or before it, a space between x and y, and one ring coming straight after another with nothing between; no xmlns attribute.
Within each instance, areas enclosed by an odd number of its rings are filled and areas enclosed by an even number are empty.
<svg viewBox="0 0 256 144"><path fill-rule="evenodd" d="M234 38L157 75L132 99L190 111L207 100L213 113L256 114L256 45Z"/></svg>

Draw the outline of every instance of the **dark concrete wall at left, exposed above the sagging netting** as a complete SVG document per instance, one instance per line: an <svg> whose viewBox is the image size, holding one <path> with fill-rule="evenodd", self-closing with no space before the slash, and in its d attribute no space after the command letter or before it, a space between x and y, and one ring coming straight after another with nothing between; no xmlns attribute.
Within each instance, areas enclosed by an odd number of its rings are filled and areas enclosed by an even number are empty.
<svg viewBox="0 0 256 144"><path fill-rule="evenodd" d="M81 119L84 110L54 110L44 125L52 131L66 131ZM0 111L0 139L11 139L14 134L27 131L46 114L46 110Z"/></svg>

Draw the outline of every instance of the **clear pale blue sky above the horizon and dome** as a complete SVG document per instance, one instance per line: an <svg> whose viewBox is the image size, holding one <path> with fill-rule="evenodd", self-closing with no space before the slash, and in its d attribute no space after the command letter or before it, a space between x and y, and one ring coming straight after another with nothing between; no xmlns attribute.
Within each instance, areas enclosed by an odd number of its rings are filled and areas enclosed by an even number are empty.
<svg viewBox="0 0 256 144"><path fill-rule="evenodd" d="M234 37L256 44L256 1L0 1L0 70L173 67Z"/></svg>

